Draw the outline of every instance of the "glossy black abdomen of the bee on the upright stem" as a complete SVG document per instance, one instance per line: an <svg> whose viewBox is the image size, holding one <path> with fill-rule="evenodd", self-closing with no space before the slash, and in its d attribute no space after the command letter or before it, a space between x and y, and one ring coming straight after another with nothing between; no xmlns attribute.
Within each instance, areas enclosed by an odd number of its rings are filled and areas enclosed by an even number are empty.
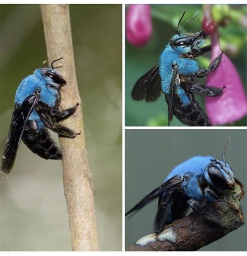
<svg viewBox="0 0 247 256"><path fill-rule="evenodd" d="M60 160L61 152L45 127L39 128L34 120L27 122L22 136L23 142L35 154L44 159Z"/></svg>

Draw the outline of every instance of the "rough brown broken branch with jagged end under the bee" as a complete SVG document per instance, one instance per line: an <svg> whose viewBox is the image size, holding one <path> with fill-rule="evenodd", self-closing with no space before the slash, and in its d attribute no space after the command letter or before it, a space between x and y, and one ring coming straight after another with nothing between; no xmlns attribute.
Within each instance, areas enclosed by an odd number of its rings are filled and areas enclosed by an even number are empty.
<svg viewBox="0 0 247 256"><path fill-rule="evenodd" d="M126 251L196 251L230 233L244 224L240 200L243 198L242 184L236 180L236 189L226 192L215 205L206 205L206 212L217 218L225 228L213 225L196 213L165 226L172 227L176 241L154 241L145 246L131 245ZM230 202L230 203L229 203Z"/></svg>

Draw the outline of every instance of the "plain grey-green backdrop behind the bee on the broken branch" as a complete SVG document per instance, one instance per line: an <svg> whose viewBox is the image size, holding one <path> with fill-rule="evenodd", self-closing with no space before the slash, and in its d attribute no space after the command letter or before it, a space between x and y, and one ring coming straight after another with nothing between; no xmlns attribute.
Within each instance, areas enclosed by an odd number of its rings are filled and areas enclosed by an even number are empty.
<svg viewBox="0 0 247 256"><path fill-rule="evenodd" d="M126 130L125 211L160 186L170 170L190 157L212 155L221 159L229 137L231 141L225 159L246 189L246 130ZM153 233L157 203L156 199L126 217L126 246ZM241 205L246 218L246 196ZM247 226L244 224L201 251L246 251L246 237Z"/></svg>

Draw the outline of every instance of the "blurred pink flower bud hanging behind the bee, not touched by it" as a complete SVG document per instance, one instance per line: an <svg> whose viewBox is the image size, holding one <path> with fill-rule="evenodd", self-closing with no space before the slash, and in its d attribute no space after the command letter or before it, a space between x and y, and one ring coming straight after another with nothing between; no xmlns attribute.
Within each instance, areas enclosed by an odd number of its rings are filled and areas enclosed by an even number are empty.
<svg viewBox="0 0 247 256"><path fill-rule="evenodd" d="M126 17L126 36L129 43L143 46L152 35L150 5L129 5Z"/></svg>

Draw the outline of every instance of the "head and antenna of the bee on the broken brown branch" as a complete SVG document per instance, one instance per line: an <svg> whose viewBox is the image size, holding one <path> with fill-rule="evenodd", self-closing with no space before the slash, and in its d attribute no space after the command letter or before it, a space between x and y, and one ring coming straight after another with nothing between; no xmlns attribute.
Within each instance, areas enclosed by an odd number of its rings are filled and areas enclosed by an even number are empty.
<svg viewBox="0 0 247 256"><path fill-rule="evenodd" d="M227 142L227 145L229 140ZM225 152L227 145L223 152L223 160L212 159L212 162L207 165L205 169L205 178L207 182L218 189L234 190L235 181L230 165L225 161Z"/></svg>

